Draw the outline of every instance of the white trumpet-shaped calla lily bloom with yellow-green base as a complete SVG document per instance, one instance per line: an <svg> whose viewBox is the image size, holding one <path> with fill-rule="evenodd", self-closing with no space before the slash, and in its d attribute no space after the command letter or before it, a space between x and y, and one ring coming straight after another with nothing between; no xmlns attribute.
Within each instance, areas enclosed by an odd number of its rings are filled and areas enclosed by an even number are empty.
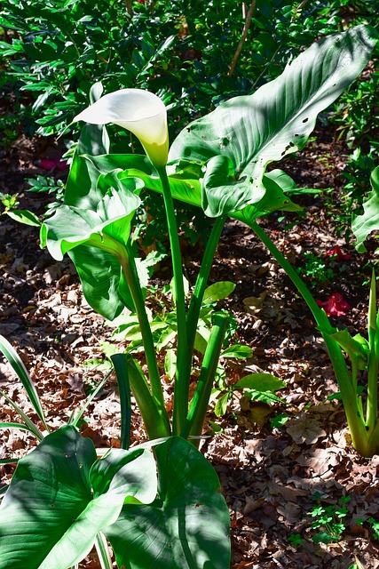
<svg viewBox="0 0 379 569"><path fill-rule="evenodd" d="M143 89L121 89L104 95L75 116L74 122L118 124L133 132L156 167L167 164L169 132L162 100Z"/></svg>

